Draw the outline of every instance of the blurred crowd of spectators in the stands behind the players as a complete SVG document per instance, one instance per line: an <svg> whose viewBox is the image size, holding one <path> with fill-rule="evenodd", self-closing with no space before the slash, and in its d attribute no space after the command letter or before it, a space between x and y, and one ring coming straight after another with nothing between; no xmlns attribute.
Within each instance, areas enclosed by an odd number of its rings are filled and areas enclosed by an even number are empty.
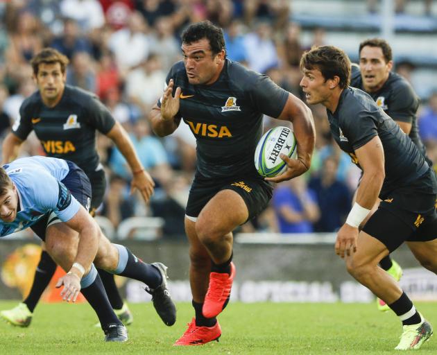
<svg viewBox="0 0 437 355"><path fill-rule="evenodd" d="M375 1L369 1L372 10ZM399 1L400 10L402 3ZM162 94L166 73L180 60L180 33L187 24L210 19L223 27L228 58L266 73L302 98L300 56L325 43L323 28L311 44L291 23L289 0L10 0L0 1L0 135L17 119L24 98L35 91L28 61L45 46L71 61L67 84L94 92L123 124L144 167L157 184L150 205L129 195L130 170L105 136L98 152L108 175L98 214L117 227L132 216L164 218L164 237L183 238L185 203L196 168L196 141L181 123L171 136L151 132L148 112ZM334 44L341 46L341 44ZM357 43L358 51L358 43ZM317 141L309 173L276 189L262 216L242 230L333 232L350 210L359 171L332 144L322 107L311 107ZM420 133L437 162L437 90L420 108ZM265 128L282 125L265 118ZM21 155L42 155L35 137Z"/></svg>

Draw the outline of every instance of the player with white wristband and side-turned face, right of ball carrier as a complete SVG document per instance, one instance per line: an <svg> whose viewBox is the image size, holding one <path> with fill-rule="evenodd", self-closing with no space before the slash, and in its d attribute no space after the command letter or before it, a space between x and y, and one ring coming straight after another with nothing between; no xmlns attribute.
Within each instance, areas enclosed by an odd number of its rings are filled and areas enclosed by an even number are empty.
<svg viewBox="0 0 437 355"><path fill-rule="evenodd" d="M422 266L437 272L436 177L413 141L372 98L350 84L350 60L334 46L302 56L307 103L327 108L331 133L363 176L357 200L335 244L350 275L386 302L403 325L395 349L418 349L432 327L379 261L406 242ZM359 227L377 202L379 207Z"/></svg>

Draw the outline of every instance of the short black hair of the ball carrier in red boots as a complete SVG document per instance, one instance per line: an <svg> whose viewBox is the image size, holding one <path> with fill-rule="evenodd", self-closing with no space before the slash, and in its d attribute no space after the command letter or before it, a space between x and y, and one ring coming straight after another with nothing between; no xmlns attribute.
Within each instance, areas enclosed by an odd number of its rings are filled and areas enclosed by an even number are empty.
<svg viewBox="0 0 437 355"><path fill-rule="evenodd" d="M225 48L225 38L223 30L212 24L211 21L202 21L192 24L182 33L182 43L191 44L206 38L214 55L220 53Z"/></svg>

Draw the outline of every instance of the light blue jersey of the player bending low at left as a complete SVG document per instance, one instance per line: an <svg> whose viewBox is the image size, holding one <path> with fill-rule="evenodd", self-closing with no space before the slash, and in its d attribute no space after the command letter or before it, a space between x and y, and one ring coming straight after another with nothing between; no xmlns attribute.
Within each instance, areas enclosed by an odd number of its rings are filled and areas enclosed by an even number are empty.
<svg viewBox="0 0 437 355"><path fill-rule="evenodd" d="M62 184L69 173L65 160L51 157L26 157L5 164L17 187L17 217L12 223L0 220L0 236L24 230L37 223L48 212L67 222L78 212L80 203Z"/></svg>

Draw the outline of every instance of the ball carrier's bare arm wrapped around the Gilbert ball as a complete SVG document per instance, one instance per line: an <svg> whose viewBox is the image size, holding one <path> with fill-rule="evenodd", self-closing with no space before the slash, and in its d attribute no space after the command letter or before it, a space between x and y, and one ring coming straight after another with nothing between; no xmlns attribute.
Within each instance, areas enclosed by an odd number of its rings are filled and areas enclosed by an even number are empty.
<svg viewBox="0 0 437 355"><path fill-rule="evenodd" d="M293 94L289 94L284 110L282 110L278 119L293 123L293 131L298 144L298 157L290 159L281 154L280 157L286 162L288 168L285 173L275 178L266 178L271 182L290 180L305 173L311 166L311 156L316 141L313 114L309 107Z"/></svg>

